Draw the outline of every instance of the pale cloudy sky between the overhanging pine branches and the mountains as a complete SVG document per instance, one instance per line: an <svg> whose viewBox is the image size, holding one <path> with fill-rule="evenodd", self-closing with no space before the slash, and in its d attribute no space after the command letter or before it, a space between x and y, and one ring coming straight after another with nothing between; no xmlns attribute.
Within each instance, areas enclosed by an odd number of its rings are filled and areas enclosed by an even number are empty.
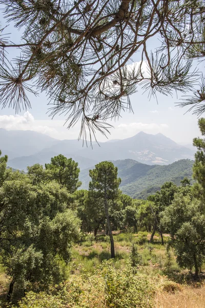
<svg viewBox="0 0 205 308"><path fill-rule="evenodd" d="M2 26L5 26L5 21L0 12L0 20ZM17 43L20 38L20 33L13 25L7 28L6 33L10 34L10 40ZM156 42L154 42L156 43ZM152 42L150 43L152 44ZM152 49L152 45L150 45ZM9 51L9 56L15 57L15 50ZM133 63L139 61L136 55ZM131 62L128 64L132 64ZM200 70L204 68L201 66ZM121 117L112 122L110 134L107 138L110 139L125 139L134 136L139 131L156 134L163 133L165 136L171 138L179 144L192 144L194 137L199 136L199 129L197 126L197 117L191 112L187 112L189 108L180 108L177 102L180 101L181 95L165 96L157 95L155 98L148 98L148 92L143 93L141 89L131 95L130 100L134 113L122 112ZM189 93L187 93L189 94ZM28 95L32 109L22 110L15 114L13 109L0 109L0 128L7 130L34 130L46 133L49 136L64 140L77 139L79 135L80 123L68 130L65 124L66 117L64 115L55 116L52 120L49 117L48 100L45 93L40 93L38 97ZM104 142L107 139L96 133L98 141Z"/></svg>

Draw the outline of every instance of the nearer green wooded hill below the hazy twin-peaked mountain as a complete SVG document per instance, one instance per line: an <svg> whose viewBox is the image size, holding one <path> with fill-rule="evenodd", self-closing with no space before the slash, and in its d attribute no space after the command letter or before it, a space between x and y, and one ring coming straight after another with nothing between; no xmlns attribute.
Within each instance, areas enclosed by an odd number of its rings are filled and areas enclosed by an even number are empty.
<svg viewBox="0 0 205 308"><path fill-rule="evenodd" d="M124 194L136 199L146 199L167 181L180 185L184 177L191 179L193 163L194 161L183 159L170 165L151 166L131 159L113 161L121 178L120 189ZM88 189L89 169L80 171L79 179L83 183L81 189Z"/></svg>

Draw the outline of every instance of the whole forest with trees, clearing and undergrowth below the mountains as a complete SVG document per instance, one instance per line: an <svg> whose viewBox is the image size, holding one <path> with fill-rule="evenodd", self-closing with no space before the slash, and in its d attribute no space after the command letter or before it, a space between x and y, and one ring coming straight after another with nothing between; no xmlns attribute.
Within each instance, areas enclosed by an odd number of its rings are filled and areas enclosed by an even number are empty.
<svg viewBox="0 0 205 308"><path fill-rule="evenodd" d="M205 140L193 144L193 185L165 182L147 200L122 194L112 162L85 190L71 158L22 172L2 156L2 307L203 307Z"/></svg>

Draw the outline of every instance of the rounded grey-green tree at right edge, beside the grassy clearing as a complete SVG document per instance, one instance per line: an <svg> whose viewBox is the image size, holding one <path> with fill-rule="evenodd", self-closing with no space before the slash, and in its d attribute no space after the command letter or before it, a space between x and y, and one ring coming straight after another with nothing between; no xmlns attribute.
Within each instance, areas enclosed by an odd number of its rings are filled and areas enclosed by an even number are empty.
<svg viewBox="0 0 205 308"><path fill-rule="evenodd" d="M204 205L179 192L173 203L163 211L161 222L171 234L178 264L187 268L194 266L198 276L205 253Z"/></svg>

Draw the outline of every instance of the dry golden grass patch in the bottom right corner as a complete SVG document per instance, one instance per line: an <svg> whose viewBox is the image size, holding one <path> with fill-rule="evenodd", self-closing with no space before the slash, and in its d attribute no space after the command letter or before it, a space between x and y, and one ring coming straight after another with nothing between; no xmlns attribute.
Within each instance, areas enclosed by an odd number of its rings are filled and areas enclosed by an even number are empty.
<svg viewBox="0 0 205 308"><path fill-rule="evenodd" d="M187 286L181 292L158 292L155 308L205 308L205 285L199 288Z"/></svg>

